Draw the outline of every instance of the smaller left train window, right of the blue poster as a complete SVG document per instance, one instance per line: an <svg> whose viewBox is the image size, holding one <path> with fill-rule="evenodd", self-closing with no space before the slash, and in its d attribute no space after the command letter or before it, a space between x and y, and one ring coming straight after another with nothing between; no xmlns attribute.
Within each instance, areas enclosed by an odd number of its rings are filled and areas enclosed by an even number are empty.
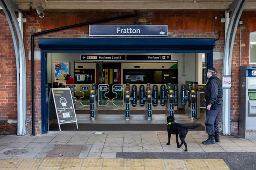
<svg viewBox="0 0 256 170"><path fill-rule="evenodd" d="M95 81L94 69L75 69L75 84L92 84Z"/></svg>

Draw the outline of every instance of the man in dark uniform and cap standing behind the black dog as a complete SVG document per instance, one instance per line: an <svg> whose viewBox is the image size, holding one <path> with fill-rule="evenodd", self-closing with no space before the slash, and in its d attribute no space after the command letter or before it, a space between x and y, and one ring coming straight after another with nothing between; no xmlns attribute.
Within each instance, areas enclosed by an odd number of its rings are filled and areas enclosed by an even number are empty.
<svg viewBox="0 0 256 170"><path fill-rule="evenodd" d="M222 107L222 83L216 76L215 68L208 68L207 70L207 82L206 82L206 120L205 127L209 135L206 141L202 143L204 145L214 144L220 142L219 135L219 122L220 122L220 110Z"/></svg>

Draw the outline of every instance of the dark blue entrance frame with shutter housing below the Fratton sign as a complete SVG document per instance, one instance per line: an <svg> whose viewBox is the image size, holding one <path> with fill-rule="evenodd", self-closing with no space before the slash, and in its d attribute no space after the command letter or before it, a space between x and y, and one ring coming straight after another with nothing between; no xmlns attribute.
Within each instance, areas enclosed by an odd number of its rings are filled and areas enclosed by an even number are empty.
<svg viewBox="0 0 256 170"><path fill-rule="evenodd" d="M42 134L48 132L47 53L206 53L213 65L215 39L200 38L38 38L41 49Z"/></svg>

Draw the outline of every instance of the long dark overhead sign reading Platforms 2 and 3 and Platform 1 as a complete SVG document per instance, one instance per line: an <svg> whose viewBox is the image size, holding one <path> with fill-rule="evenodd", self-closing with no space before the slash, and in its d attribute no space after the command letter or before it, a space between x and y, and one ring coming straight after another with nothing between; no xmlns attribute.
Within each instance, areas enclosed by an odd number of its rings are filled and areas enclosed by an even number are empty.
<svg viewBox="0 0 256 170"><path fill-rule="evenodd" d="M171 61L172 55L81 55L81 61Z"/></svg>

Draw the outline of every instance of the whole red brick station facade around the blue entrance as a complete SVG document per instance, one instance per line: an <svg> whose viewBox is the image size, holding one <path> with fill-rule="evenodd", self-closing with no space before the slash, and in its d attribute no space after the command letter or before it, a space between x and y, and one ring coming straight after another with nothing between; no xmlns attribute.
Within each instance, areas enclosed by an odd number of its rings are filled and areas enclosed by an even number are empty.
<svg viewBox="0 0 256 170"><path fill-rule="evenodd" d="M101 20L115 16L126 15L120 12L47 12L44 18L35 13L24 15L24 45L27 70L27 132L31 133L31 60L30 35L39 31ZM129 13L130 14L130 13ZM218 19L214 19L217 16ZM221 23L224 12L144 12L135 18L110 21L102 24L155 24L168 25L168 38L218 38L214 52L223 52L225 23ZM249 33L256 29L256 13L244 12L242 25L242 60L241 65L249 64ZM232 59L232 89L231 89L231 133L238 134L239 110L239 27L234 43ZM35 51L39 51L38 37L88 37L88 26L77 27L36 36ZM0 14L0 131L16 133L16 124L2 123L3 120L17 119L17 90L16 90L16 60L9 25L5 16ZM40 60L35 60L35 129L41 133L41 76ZM222 59L214 59L214 67L218 76L222 76ZM1 122L2 121L2 122Z"/></svg>

